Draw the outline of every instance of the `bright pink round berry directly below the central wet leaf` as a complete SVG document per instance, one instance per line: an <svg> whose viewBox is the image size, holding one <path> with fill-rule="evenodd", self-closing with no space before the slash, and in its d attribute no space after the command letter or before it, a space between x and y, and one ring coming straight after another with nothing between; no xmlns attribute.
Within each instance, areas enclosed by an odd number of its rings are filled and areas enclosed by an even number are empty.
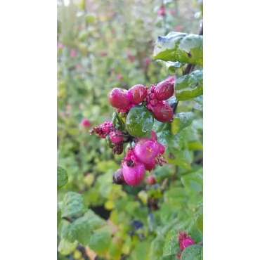
<svg viewBox="0 0 260 260"><path fill-rule="evenodd" d="M148 164L155 159L159 152L159 143L153 139L143 138L136 143L134 155L139 161Z"/></svg>

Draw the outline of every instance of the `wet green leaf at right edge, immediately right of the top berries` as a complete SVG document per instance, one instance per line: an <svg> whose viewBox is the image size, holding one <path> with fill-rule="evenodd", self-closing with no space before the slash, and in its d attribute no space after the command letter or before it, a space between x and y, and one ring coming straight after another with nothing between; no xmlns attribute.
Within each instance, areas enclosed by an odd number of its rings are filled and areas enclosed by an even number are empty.
<svg viewBox="0 0 260 260"><path fill-rule="evenodd" d="M204 82L202 70L195 70L195 72L176 79L175 96L180 101L197 98L203 95L203 92Z"/></svg>

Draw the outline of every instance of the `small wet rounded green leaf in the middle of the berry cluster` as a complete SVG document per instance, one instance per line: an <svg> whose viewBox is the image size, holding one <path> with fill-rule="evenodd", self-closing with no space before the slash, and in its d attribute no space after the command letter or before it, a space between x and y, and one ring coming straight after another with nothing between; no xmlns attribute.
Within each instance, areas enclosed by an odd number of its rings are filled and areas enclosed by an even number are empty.
<svg viewBox="0 0 260 260"><path fill-rule="evenodd" d="M149 137L154 119L145 105L137 105L126 117L126 130L134 137Z"/></svg>

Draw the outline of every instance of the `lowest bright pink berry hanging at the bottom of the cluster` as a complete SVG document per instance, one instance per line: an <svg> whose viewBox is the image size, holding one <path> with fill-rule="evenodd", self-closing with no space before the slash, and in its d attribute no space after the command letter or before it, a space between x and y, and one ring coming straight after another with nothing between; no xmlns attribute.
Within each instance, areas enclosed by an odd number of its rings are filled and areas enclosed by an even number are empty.
<svg viewBox="0 0 260 260"><path fill-rule="evenodd" d="M145 165L143 162L136 162L134 167L128 167L127 162L122 163L124 181L130 186L137 186L145 176Z"/></svg>

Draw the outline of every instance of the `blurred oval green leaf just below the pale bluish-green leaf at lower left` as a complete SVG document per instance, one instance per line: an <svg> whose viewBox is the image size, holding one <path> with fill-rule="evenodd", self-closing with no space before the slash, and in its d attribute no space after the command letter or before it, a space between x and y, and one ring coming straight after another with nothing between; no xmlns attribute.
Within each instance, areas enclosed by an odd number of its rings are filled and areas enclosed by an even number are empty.
<svg viewBox="0 0 260 260"><path fill-rule="evenodd" d="M82 216L79 219L76 219L73 223L74 233L76 240L79 244L86 246L91 239L91 225L89 225L88 219L85 216Z"/></svg>

